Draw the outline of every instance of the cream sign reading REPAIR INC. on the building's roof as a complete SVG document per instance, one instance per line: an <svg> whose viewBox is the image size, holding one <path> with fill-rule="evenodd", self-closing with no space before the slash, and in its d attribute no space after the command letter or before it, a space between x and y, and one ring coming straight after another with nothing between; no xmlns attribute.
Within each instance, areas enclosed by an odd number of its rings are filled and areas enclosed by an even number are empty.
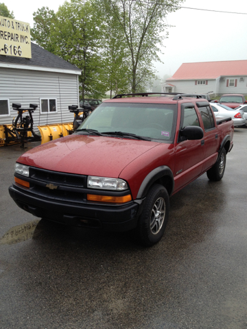
<svg viewBox="0 0 247 329"><path fill-rule="evenodd" d="M32 58L29 23L0 16L0 55Z"/></svg>

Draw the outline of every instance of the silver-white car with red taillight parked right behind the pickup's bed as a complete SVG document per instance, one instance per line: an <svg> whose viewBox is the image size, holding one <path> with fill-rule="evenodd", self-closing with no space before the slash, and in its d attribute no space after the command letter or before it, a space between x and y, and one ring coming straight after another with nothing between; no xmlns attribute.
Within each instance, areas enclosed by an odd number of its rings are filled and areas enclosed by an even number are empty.
<svg viewBox="0 0 247 329"><path fill-rule="evenodd" d="M216 120L226 119L230 117L231 119L233 119L233 123L235 127L239 125L245 125L246 120L244 118L243 110L228 108L228 106L225 106L223 104L217 104L217 103L210 103L210 105L213 110L213 114L215 114Z"/></svg>

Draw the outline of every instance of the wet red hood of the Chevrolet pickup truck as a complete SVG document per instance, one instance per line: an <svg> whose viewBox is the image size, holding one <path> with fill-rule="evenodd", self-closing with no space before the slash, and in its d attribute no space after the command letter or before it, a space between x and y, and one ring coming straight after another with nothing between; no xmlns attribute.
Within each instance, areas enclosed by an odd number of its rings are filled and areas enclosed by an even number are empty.
<svg viewBox="0 0 247 329"><path fill-rule="evenodd" d="M20 156L17 162L51 171L117 178L130 162L159 144L71 135L34 147Z"/></svg>

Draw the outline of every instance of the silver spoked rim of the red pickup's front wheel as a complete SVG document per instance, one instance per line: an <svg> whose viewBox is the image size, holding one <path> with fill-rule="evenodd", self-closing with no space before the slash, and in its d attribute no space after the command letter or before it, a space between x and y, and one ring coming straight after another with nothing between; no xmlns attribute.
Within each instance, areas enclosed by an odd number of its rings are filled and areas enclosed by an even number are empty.
<svg viewBox="0 0 247 329"><path fill-rule="evenodd" d="M150 230L152 234L160 232L165 220L165 200L159 197L154 202L150 218Z"/></svg>

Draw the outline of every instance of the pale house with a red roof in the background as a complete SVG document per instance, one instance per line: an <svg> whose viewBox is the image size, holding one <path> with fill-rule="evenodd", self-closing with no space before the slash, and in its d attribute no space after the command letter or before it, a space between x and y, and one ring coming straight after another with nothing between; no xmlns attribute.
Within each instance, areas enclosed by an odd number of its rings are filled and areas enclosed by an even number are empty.
<svg viewBox="0 0 247 329"><path fill-rule="evenodd" d="M247 60L183 63L161 88L164 93L247 95Z"/></svg>

